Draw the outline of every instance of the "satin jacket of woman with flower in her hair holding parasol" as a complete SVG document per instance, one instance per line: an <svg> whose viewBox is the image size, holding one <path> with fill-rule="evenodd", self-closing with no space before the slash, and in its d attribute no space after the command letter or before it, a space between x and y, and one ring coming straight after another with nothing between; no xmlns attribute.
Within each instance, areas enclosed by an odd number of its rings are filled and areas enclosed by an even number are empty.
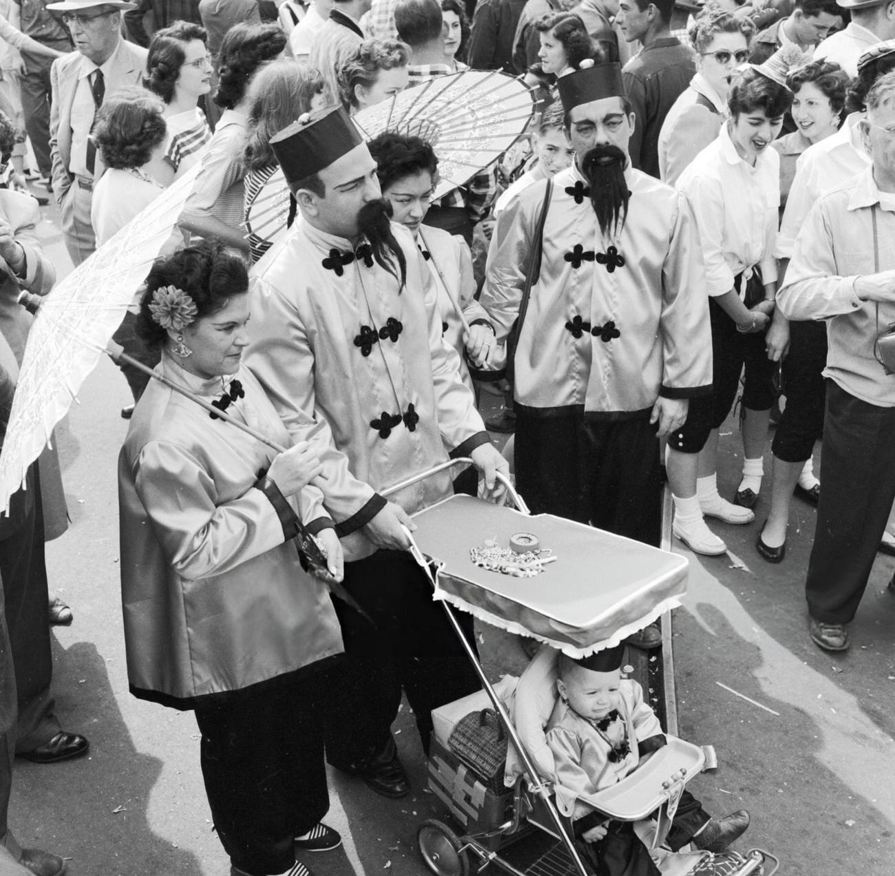
<svg viewBox="0 0 895 876"><path fill-rule="evenodd" d="M207 398L221 381L170 379ZM228 414L291 442L259 383ZM250 407L251 406L251 407ZM191 399L149 381L118 465L124 641L131 691L178 709L335 655L342 640L326 585L305 573L273 504L255 485L276 451ZM315 487L302 491L311 531L331 521ZM289 500L299 511L294 497Z"/></svg>

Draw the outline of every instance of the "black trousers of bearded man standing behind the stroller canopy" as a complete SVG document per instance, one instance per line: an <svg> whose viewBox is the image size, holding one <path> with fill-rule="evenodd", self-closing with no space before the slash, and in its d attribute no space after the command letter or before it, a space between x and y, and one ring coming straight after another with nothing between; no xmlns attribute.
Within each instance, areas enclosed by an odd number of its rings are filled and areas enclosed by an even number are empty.
<svg viewBox="0 0 895 876"><path fill-rule="evenodd" d="M659 545L659 440L648 417L541 418L516 408L516 486L534 514Z"/></svg>

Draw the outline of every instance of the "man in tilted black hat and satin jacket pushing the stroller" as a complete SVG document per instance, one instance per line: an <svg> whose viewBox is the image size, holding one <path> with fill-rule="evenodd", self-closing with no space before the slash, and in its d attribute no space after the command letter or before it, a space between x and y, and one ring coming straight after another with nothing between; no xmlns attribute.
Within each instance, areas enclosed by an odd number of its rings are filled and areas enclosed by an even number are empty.
<svg viewBox="0 0 895 876"><path fill-rule="evenodd" d="M449 473L394 502L375 491L445 461L446 446L473 458L489 490L499 492L495 472L507 463L441 337L413 238L388 220L376 162L345 111L305 115L270 144L300 215L255 268L248 364L291 430L300 411L315 414L348 457L353 477L330 482L324 501L348 561L345 588L376 624L337 605L346 671L328 760L402 796L409 786L390 731L402 686L426 748L430 710L479 685L402 528L450 494Z"/></svg>

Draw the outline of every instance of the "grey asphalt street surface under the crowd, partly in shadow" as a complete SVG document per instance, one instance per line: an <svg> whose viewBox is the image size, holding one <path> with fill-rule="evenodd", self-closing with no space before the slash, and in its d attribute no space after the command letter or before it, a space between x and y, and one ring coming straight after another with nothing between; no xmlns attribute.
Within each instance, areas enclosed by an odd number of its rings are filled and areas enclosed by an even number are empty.
<svg viewBox="0 0 895 876"><path fill-rule="evenodd" d="M46 212L39 233L64 272L70 262ZM66 729L90 738L90 756L52 766L17 761L11 825L22 845L68 857L72 876L226 876L192 714L128 692L115 468L129 393L115 365L100 362L78 401L56 432L72 526L47 545L47 564L51 590L74 612L72 626L54 632L56 712ZM720 488L729 495L742 448L736 424L722 431ZM851 650L824 653L806 631L814 509L793 502L788 554L773 566L754 550L765 502L763 495L749 526L717 525L731 554L684 552L689 592L674 617L680 734L711 744L719 760L690 788L712 813L748 809L753 823L737 847L771 850L786 876L892 876L895 597L885 585L895 561L881 554L875 563ZM594 570L595 585L606 573ZM492 678L518 673L524 656L512 636L485 626L479 636ZM413 794L386 800L332 774L327 820L345 843L305 859L318 876L425 872L416 830L446 816L426 792L406 707L396 734Z"/></svg>

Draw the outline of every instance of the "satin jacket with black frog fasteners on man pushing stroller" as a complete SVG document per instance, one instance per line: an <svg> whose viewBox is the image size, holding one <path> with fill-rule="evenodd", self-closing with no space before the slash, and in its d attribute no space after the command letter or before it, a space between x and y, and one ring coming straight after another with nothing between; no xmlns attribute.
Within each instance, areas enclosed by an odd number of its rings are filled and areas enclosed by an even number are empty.
<svg viewBox="0 0 895 876"><path fill-rule="evenodd" d="M346 560L374 550L359 531L385 504L374 490L444 462L446 448L465 456L489 441L456 350L442 338L413 238L396 223L392 230L407 262L403 290L378 263L354 258L348 240L304 219L252 270L247 365L295 440L307 411L348 457L350 474L325 488ZM338 270L328 267L336 262ZM450 492L443 472L391 498L413 513Z"/></svg>

